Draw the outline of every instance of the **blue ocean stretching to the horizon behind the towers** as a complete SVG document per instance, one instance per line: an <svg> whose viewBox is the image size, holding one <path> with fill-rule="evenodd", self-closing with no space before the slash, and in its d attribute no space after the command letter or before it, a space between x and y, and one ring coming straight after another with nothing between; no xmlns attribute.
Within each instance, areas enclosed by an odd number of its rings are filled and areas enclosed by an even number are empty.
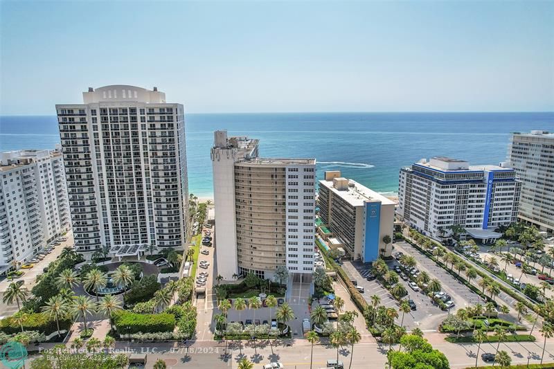
<svg viewBox="0 0 554 369"><path fill-rule="evenodd" d="M260 139L260 155L316 158L318 177L341 170L378 192L398 190L398 171L422 158L451 156L472 164L506 160L510 132L554 131L546 113L187 114L189 190L211 197L213 131ZM0 151L51 149L55 116L1 116Z"/></svg>

